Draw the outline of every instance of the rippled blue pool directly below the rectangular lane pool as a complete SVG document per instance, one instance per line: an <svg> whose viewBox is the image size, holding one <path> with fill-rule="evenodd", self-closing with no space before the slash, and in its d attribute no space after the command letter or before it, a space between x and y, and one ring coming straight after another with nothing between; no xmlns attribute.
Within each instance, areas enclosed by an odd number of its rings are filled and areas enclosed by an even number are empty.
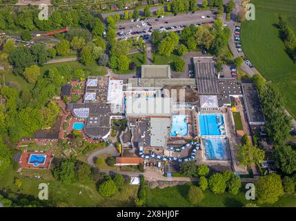
<svg viewBox="0 0 296 221"><path fill-rule="evenodd" d="M228 160L228 141L226 138L203 138L206 160Z"/></svg>

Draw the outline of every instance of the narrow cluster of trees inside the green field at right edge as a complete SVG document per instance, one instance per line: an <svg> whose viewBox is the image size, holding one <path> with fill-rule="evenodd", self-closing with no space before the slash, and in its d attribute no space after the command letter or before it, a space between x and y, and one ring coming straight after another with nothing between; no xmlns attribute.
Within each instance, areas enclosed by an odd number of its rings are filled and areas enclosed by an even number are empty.
<svg viewBox="0 0 296 221"><path fill-rule="evenodd" d="M279 28L281 30L282 39L286 46L288 55L296 61L296 35L288 24L286 17L279 16Z"/></svg>

